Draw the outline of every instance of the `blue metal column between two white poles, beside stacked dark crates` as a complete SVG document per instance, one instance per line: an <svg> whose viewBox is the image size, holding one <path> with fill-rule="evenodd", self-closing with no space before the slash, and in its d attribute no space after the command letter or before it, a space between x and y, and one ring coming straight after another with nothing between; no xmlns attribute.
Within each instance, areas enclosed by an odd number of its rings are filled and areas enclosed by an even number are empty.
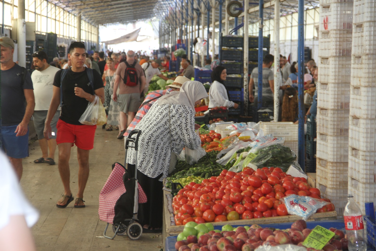
<svg viewBox="0 0 376 251"><path fill-rule="evenodd" d="M264 37L262 28L264 25L264 0L259 0L259 55L258 55L258 104L257 109L262 107L262 49L264 48ZM245 27L244 27L245 28ZM247 27L248 29L248 27ZM247 38L244 38L247 39ZM247 50L247 51L246 51ZM248 48L244 48L244 53L248 53Z"/></svg>

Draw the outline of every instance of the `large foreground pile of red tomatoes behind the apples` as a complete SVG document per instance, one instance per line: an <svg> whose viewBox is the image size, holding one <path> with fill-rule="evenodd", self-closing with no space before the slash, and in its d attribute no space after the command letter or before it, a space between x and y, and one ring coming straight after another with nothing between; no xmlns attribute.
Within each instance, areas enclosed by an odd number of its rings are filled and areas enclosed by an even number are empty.
<svg viewBox="0 0 376 251"><path fill-rule="evenodd" d="M287 175L279 167L247 168L240 173L223 170L201 184L185 185L173 197L174 219L176 225L185 225L285 216L287 209L279 199L289 194L321 199L320 190L311 188L305 178ZM326 211L334 211L334 205L317 210Z"/></svg>

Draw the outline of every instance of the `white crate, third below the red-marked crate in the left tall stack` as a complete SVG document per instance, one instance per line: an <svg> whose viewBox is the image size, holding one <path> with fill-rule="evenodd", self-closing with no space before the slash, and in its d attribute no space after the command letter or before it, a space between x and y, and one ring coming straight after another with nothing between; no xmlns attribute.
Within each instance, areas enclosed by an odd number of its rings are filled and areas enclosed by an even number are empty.
<svg viewBox="0 0 376 251"><path fill-rule="evenodd" d="M350 84L318 82L317 106L328 109L349 109Z"/></svg>

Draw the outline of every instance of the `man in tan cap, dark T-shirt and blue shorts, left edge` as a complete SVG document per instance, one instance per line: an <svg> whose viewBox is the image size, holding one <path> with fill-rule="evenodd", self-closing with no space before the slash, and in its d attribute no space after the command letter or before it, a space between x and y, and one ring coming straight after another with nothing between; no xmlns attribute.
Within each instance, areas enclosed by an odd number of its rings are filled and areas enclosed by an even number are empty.
<svg viewBox="0 0 376 251"><path fill-rule="evenodd" d="M29 156L28 125L35 101L30 73L13 61L13 53L13 40L0 37L2 148L20 180L22 159Z"/></svg>

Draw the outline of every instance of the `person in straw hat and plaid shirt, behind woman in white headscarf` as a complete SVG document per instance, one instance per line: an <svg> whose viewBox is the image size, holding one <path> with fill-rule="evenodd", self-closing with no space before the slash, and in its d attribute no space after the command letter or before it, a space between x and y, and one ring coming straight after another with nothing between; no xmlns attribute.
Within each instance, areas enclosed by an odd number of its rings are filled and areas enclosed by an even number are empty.
<svg viewBox="0 0 376 251"><path fill-rule="evenodd" d="M124 133L124 140L127 139L127 136L130 132L132 132L133 129L135 129L136 124L141 121L143 116L149 111L150 107L155 103L155 101L158 100L163 95L169 94L172 91L179 91L180 87L186 82L190 81L189 78L186 77L176 77L174 80L174 83L169 84L166 86L166 90L155 90L153 92L150 92L144 99L144 102L141 104L140 108L138 109L138 112L135 116L135 118L130 122L126 132Z"/></svg>

